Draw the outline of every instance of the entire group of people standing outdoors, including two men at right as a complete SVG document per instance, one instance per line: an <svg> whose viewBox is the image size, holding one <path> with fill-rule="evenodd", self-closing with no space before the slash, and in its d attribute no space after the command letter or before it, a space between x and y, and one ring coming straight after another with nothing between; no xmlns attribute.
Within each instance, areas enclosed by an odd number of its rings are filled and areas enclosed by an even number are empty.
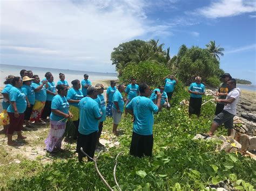
<svg viewBox="0 0 256 191"><path fill-rule="evenodd" d="M73 80L72 86L65 80L65 75L59 73L57 86L53 81L51 72L45 73L45 78L40 80L32 71L21 70L21 76L9 75L6 77L2 90L4 122L3 133L7 134L8 145L17 145L12 140L14 131L17 139L25 139L22 135L23 124L26 128L45 124L50 121L50 132L45 140L46 151L55 153L62 150L62 139L69 120L75 127L73 139L77 140L78 160L83 161L84 152L93 158L96 146L103 146L99 139L103 130L106 117L112 117L112 133L118 135L118 124L123 112L132 116L133 133L130 154L136 157L151 156L153 148L153 123L154 114L162 108L170 109L174 87L178 83L174 75L167 75L163 85L153 91L146 83L136 84L136 79L125 88L124 84L116 86L115 81L110 82L106 90L106 101L103 95L103 84L92 86L89 75L84 74L84 79ZM233 128L235 106L238 102L240 90L236 88L235 80L225 73L220 76L217 95L217 107L211 129L206 136L213 136L218 126L224 124L228 135ZM82 87L82 89L81 89ZM195 82L188 88L190 104L188 113L200 116L202 96L205 86L201 77L197 76ZM90 160L90 158L88 158Z"/></svg>

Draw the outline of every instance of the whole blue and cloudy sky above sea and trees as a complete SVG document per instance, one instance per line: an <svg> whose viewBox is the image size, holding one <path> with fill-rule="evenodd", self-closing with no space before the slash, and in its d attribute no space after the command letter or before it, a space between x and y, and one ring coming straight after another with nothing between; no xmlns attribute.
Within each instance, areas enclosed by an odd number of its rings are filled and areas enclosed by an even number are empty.
<svg viewBox="0 0 256 191"><path fill-rule="evenodd" d="M220 67L256 84L256 0L0 1L0 63L115 72L114 47L159 39L225 48Z"/></svg>

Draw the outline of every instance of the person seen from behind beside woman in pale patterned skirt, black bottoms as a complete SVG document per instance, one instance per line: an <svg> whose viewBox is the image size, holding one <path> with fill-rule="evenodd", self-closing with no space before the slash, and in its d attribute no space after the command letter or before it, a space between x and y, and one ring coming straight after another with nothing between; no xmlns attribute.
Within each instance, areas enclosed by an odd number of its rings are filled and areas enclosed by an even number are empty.
<svg viewBox="0 0 256 191"><path fill-rule="evenodd" d="M99 105L95 101L98 96L98 91L95 87L87 89L87 96L82 98L78 103L80 110L79 135L77 139L78 161L83 160L84 154L80 151L82 147L84 152L93 158L98 137L99 119L102 118L102 112L99 110ZM88 158L88 161L91 161Z"/></svg>

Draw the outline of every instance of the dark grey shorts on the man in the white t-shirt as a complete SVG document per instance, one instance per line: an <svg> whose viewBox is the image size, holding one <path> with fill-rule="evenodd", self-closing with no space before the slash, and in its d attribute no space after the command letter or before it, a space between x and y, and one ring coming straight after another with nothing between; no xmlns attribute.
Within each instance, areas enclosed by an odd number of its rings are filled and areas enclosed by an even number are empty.
<svg viewBox="0 0 256 191"><path fill-rule="evenodd" d="M217 124L218 126L224 123L224 126L226 129L232 129L233 118L234 118L233 114L223 110L217 116L214 117L213 123Z"/></svg>

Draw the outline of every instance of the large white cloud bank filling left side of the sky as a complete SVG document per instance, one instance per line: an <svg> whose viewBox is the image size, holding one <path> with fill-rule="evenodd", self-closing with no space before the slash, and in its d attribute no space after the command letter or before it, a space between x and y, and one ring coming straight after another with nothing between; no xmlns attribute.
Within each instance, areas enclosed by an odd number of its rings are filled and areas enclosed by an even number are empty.
<svg viewBox="0 0 256 191"><path fill-rule="evenodd" d="M102 63L103 72L113 72L105 64L113 47L145 34L170 34L168 27L146 22L146 6L143 0L1 1L1 62Z"/></svg>

